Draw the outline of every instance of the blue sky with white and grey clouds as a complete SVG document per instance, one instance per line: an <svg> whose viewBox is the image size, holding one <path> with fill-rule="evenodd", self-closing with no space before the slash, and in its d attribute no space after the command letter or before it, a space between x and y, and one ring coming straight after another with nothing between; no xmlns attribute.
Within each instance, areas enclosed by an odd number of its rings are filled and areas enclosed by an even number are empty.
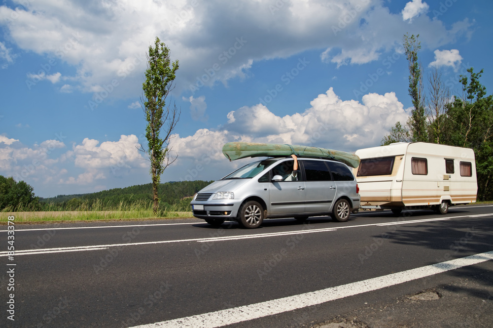
<svg viewBox="0 0 493 328"><path fill-rule="evenodd" d="M142 82L159 37L178 60L181 110L162 182L217 180L231 141L354 152L412 110L403 36L452 94L484 69L493 1L2 0L0 175L36 196L151 182Z"/></svg>

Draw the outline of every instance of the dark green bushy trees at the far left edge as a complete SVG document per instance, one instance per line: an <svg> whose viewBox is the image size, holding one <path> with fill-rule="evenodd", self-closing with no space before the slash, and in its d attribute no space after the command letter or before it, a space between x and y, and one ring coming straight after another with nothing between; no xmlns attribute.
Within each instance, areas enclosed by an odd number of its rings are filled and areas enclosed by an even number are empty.
<svg viewBox="0 0 493 328"><path fill-rule="evenodd" d="M0 210L35 210L39 207L39 198L34 188L24 181L16 182L13 177L0 175Z"/></svg>

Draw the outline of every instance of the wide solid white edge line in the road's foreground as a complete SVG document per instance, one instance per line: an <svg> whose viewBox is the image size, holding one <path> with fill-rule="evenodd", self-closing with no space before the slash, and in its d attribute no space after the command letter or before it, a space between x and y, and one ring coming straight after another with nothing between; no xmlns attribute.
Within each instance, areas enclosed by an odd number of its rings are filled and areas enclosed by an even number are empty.
<svg viewBox="0 0 493 328"><path fill-rule="evenodd" d="M240 306L201 315L136 326L134 328L216 328L266 316L293 311L332 300L390 287L412 280L436 275L464 266L493 260L493 251L471 255L447 262L427 265L386 276L363 280L347 285L330 287L304 294L283 297L271 301Z"/></svg>

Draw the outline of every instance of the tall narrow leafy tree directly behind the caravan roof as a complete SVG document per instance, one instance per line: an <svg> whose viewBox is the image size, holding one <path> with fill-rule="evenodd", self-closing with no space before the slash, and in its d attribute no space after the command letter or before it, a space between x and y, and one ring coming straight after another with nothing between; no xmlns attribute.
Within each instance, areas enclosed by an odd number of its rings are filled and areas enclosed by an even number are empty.
<svg viewBox="0 0 493 328"><path fill-rule="evenodd" d="M412 141L428 141L427 124L424 110L423 67L418 61L418 51L421 49L420 35L404 35L404 51L409 66L409 95L413 99L413 110L409 123Z"/></svg>

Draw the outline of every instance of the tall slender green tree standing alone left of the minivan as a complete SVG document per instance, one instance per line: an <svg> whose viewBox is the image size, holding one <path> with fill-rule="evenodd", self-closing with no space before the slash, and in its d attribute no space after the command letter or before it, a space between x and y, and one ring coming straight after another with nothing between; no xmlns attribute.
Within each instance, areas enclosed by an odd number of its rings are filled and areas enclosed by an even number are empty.
<svg viewBox="0 0 493 328"><path fill-rule="evenodd" d="M176 108L176 104L172 108L166 106L166 98L173 89L177 70L178 61L171 62L169 48L156 37L154 47L149 46L147 54L147 70L145 82L142 83L141 98L147 121L145 130L147 149L145 150L141 145L141 150L147 154L150 161L154 214L157 214L159 208L158 186L161 174L177 158L177 155L175 157L170 155L169 142L181 111ZM166 127L163 128L165 123ZM163 136L161 132L164 132Z"/></svg>

